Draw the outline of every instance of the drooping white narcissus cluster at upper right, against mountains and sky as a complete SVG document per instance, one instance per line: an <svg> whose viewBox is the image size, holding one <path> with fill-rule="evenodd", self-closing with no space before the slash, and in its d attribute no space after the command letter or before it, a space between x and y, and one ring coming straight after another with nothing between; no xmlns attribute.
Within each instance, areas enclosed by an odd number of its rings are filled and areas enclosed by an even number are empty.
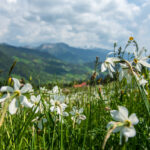
<svg viewBox="0 0 150 150"><path fill-rule="evenodd" d="M150 68L150 64L147 62L147 57L143 57L142 54L145 50L141 49L139 52L136 50L133 54L134 57L130 61L119 57L107 57L104 63L101 65L101 72L108 70L109 75L113 78L115 72L115 65L119 65L119 80L126 78L127 83L131 83L132 78L135 77L139 84L144 86L147 81L142 75L142 67ZM112 52L111 52L112 53Z"/></svg>

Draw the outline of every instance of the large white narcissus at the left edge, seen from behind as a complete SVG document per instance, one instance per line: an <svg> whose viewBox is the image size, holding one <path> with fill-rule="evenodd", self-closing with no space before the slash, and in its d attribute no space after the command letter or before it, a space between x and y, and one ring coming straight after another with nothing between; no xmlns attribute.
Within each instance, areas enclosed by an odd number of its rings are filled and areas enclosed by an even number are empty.
<svg viewBox="0 0 150 150"><path fill-rule="evenodd" d="M31 84L27 83L21 87L21 84L18 79L12 79L14 81L14 88L10 86L1 87L0 92L7 92L7 94L4 94L4 96L0 99L0 102L3 102L6 98L8 98L8 93L17 94L17 96L14 97L11 103L9 104L10 114L15 114L17 112L17 109L19 108L19 104L29 108L32 107L32 104L27 100L26 96L23 95L27 92L31 92L32 86Z"/></svg>

